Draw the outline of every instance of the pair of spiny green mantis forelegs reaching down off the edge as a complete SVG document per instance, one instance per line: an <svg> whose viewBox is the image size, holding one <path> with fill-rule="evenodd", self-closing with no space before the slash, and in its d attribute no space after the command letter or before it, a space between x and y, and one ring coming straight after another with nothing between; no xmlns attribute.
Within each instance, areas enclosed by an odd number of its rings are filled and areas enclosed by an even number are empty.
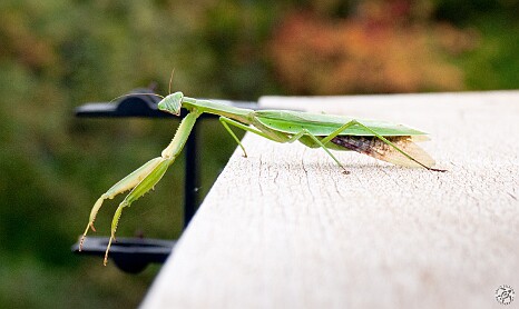
<svg viewBox="0 0 519 309"><path fill-rule="evenodd" d="M166 149L163 150L160 157L146 162L144 166L141 166L140 168L125 177L123 180L114 185L106 193L104 193L97 200L97 202L94 205L92 210L90 211L90 220L79 242L79 250L81 250L88 230L91 228L95 231L94 221L96 220L96 216L102 206L102 201L105 201L106 199L112 199L115 196L119 193L124 193L128 190L131 190L128 193L128 196L126 196L126 198L123 200L123 202L120 202L111 220L110 240L108 241L108 247L105 253L105 265L107 263L108 251L110 249L112 240L115 239L117 225L123 213L123 209L129 207L134 201L136 201L146 192L151 190L155 187L155 185L157 185L157 182L163 178L167 168L170 165L173 165L173 162L184 148L184 144L186 143L187 138L189 137L189 133L193 130L195 121L199 114L200 113L196 111L188 113L180 122L180 126L178 127L175 137L173 138L172 142L166 147Z"/></svg>

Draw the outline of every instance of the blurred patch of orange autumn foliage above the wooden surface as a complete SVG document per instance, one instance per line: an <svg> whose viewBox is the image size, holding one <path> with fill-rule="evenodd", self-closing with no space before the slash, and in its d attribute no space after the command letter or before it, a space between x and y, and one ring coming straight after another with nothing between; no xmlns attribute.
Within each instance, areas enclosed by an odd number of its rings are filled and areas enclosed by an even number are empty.
<svg viewBox="0 0 519 309"><path fill-rule="evenodd" d="M445 57L449 48L469 49L471 39L454 28L439 29L297 12L280 24L268 49L277 78L293 94L462 90L463 74ZM464 38L463 46L457 48L445 32Z"/></svg>

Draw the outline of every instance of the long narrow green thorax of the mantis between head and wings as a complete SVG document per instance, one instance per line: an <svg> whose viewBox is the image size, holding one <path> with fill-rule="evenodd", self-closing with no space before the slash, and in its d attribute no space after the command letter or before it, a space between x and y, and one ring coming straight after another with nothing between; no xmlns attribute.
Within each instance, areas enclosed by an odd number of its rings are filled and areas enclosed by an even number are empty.
<svg viewBox="0 0 519 309"><path fill-rule="evenodd" d="M197 100L188 97L183 98L182 107L189 111L196 110L200 113L207 112L223 116L246 124L251 124L251 118L254 113L254 110L252 109L236 108L208 100Z"/></svg>

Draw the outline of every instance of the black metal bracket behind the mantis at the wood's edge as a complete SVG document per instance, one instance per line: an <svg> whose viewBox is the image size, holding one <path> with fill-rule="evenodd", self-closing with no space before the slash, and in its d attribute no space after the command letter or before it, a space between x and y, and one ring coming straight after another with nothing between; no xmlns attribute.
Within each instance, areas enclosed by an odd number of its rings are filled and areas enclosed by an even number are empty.
<svg viewBox="0 0 519 309"><path fill-rule="evenodd" d="M76 108L76 117L84 118L174 118L175 116L160 111L157 103L160 97L150 89L135 89L128 94L120 97L115 102L86 103ZM234 107L255 109L256 102L213 100L218 103ZM187 112L182 111L180 118ZM217 116L203 113L200 119L217 118ZM196 126L187 139L185 146L185 186L184 186L184 228L192 220L198 207L198 162L196 159ZM86 256L105 256L106 237L88 237L85 240L82 250L79 252L79 242L72 246L72 251ZM137 273L151 262L164 262L172 252L175 241L149 239L149 238L117 238L117 242L111 245L110 258L123 271Z"/></svg>

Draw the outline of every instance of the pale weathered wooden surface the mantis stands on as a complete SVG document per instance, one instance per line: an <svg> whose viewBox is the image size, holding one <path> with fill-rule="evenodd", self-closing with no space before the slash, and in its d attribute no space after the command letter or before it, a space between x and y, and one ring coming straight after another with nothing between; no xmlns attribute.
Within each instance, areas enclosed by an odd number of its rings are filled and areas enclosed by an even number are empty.
<svg viewBox="0 0 519 309"><path fill-rule="evenodd" d="M449 172L335 152L345 176L247 133L143 308L501 308L500 285L519 292L519 91L261 103L423 129Z"/></svg>

